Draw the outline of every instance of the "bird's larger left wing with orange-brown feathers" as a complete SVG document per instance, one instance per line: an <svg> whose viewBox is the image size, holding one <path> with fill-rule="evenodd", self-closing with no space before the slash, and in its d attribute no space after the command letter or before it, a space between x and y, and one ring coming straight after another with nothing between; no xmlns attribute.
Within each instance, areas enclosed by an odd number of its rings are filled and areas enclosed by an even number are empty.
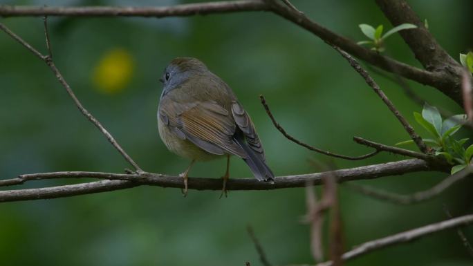
<svg viewBox="0 0 473 266"><path fill-rule="evenodd" d="M209 153L246 158L245 151L233 140L236 125L232 114L216 102L173 102L166 109L160 110L160 119L181 139Z"/></svg>

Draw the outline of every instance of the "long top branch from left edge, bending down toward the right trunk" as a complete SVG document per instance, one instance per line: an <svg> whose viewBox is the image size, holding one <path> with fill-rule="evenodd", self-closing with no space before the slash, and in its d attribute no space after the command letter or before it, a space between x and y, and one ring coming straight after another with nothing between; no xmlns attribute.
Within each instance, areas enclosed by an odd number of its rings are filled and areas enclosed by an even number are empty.
<svg viewBox="0 0 473 266"><path fill-rule="evenodd" d="M190 3L169 7L41 7L41 6L0 6L0 17L19 16L69 16L69 17L182 17L192 15L207 15L224 12L272 11L275 14L292 21L314 35L346 50L356 57L378 66L389 72L398 73L420 84L438 88L447 96L461 104L460 82L448 73L429 72L400 61L375 53L372 50L355 44L354 41L337 35L335 32L320 26L308 19L303 12L284 6L274 0L243 0L221 1L210 3ZM406 30L407 32L407 30Z"/></svg>

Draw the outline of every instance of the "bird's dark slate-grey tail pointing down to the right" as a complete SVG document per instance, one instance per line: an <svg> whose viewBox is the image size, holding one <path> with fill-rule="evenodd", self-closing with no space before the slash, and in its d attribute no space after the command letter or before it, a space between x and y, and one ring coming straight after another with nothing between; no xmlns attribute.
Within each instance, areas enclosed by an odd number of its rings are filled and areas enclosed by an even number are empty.
<svg viewBox="0 0 473 266"><path fill-rule="evenodd" d="M266 162L263 159L263 156L256 154L249 146L246 144L243 138L235 138L236 143L241 146L241 148L246 153L246 158L243 161L248 164L254 177L259 181L273 182L275 180L275 175L272 173L271 169L266 165Z"/></svg>

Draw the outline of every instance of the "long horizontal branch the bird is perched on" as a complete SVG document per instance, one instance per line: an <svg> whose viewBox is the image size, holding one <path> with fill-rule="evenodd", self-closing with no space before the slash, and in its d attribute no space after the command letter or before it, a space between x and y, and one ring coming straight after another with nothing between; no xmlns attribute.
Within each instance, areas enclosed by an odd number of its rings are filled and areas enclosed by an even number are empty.
<svg viewBox="0 0 473 266"><path fill-rule="evenodd" d="M447 171L438 169L436 165L429 165L423 160L402 160L399 162L387 162L384 164L373 164L366 167L355 167L351 169L341 169L333 171L337 176L337 182L350 180L363 180L380 178L389 175L402 175L418 171ZM321 184L322 178L328 173L310 173L304 175L287 175L275 179L275 184L259 182L254 178L230 179L227 183L228 190L268 190L284 189L292 187L305 187L306 182L313 181L314 184ZM40 189L17 189L0 191L0 202L19 200L38 200L45 198L64 198L83 194L127 189L147 184L158 187L183 188L183 179L178 176L159 175L154 173L140 174L118 174L118 173L97 173L97 172L57 172L57 173L35 173L21 175L28 180L40 180L51 178L102 178L98 182L84 184L71 184L58 187L46 187ZM22 184L22 178L3 180L3 185ZM222 182L218 178L189 178L189 189L198 190L221 190Z"/></svg>

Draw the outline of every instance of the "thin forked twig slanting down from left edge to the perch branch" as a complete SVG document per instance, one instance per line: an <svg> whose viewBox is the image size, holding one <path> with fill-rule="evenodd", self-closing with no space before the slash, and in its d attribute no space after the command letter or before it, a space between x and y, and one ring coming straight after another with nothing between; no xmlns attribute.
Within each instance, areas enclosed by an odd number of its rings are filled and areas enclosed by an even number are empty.
<svg viewBox="0 0 473 266"><path fill-rule="evenodd" d="M118 152L120 152L122 154L124 159L127 160L127 162L129 162L136 169L136 171L142 171L142 169L138 166L138 164L136 164L136 162L134 162L133 159L131 159L131 157L122 149L120 144L118 144L118 142L113 138L113 136L109 133L109 131L106 131L104 126L102 126L102 124L100 124L100 122L95 117L93 117L93 115L91 113L89 113L89 111L87 111L86 108L84 108L84 106L82 106L79 99L77 99L74 92L72 91L71 86L69 86L69 84L66 82L66 80L64 79L62 74L59 72L59 69L57 69L57 67L55 66L53 58L52 58L53 53L49 52L50 53L49 55L42 55L35 48L33 48L33 46L30 46L30 44L28 44L26 41L24 41L24 39L21 39L21 37L16 35L14 32L12 32L10 29L8 29L2 23L0 23L0 29L3 30L4 32L6 32L8 35L10 35L10 37L15 39L16 41L18 41L21 45L25 46L34 55L36 55L37 57L42 59L49 66L49 68L51 70L53 70L53 73L54 73L55 77L57 78L59 83L66 89L69 96L71 96L71 98L75 102L75 105L77 106L77 108L79 108L80 112L85 117L87 117L87 119L90 122L92 122L105 135L106 139L109 140L109 142L115 147L115 149L117 149ZM47 26L47 18L46 17L44 18L44 33L45 33L45 36L46 36L46 45L48 46L48 50L50 51L50 41L49 41L49 34L48 34L48 26Z"/></svg>

